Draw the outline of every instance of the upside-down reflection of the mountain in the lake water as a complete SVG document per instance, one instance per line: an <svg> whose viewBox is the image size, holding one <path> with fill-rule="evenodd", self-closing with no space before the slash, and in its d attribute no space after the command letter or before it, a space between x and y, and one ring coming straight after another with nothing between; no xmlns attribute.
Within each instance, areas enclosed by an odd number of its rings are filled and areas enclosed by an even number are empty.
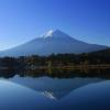
<svg viewBox="0 0 110 110"><path fill-rule="evenodd" d="M40 91L42 95L51 99L62 99L77 88L80 88L91 82L101 81L101 79L97 78L53 79L48 77L42 77L33 79L29 77L21 78L18 76L10 80L15 84L26 86L28 88Z"/></svg>

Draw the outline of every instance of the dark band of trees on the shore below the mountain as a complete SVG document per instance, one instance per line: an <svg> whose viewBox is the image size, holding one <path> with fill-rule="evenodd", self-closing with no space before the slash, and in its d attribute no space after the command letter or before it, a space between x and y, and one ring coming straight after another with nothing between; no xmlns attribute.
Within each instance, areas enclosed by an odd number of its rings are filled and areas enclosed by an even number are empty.
<svg viewBox="0 0 110 110"><path fill-rule="evenodd" d="M110 50L82 54L52 54L50 56L1 57L0 68L28 68L40 66L75 66L110 64Z"/></svg>

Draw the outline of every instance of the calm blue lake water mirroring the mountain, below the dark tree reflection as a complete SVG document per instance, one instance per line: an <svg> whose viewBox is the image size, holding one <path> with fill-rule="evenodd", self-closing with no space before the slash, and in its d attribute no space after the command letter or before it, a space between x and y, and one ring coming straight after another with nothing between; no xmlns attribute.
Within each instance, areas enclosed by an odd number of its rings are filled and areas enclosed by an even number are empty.
<svg viewBox="0 0 110 110"><path fill-rule="evenodd" d="M106 78L0 76L0 110L110 110Z"/></svg>

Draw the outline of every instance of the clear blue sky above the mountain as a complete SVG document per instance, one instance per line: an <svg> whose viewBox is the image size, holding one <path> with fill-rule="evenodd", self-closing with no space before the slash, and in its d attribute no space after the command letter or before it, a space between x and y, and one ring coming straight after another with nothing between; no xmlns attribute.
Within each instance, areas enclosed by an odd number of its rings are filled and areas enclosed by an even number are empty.
<svg viewBox="0 0 110 110"><path fill-rule="evenodd" d="M110 46L110 0L0 0L0 51L57 29Z"/></svg>

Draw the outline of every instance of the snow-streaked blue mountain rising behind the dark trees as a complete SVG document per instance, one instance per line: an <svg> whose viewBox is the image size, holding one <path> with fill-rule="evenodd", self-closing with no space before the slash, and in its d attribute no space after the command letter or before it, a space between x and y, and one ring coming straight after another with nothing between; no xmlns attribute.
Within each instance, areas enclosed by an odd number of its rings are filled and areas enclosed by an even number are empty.
<svg viewBox="0 0 110 110"><path fill-rule="evenodd" d="M107 46L88 44L65 34L64 32L48 31L45 35L36 37L16 47L1 51L0 56L28 56L28 55L51 55L65 53L89 53L108 48Z"/></svg>

